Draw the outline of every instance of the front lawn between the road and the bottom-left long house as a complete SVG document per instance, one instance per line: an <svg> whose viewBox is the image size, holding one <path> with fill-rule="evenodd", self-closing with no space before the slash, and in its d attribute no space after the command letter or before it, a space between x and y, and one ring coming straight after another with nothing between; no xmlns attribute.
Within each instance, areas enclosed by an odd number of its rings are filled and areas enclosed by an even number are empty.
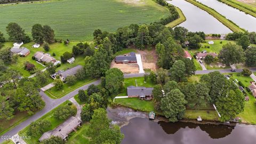
<svg viewBox="0 0 256 144"><path fill-rule="evenodd" d="M43 117L41 117L41 118L39 118L39 119L37 120L37 121L40 121L40 120L46 119L46 120L49 120L49 121L51 122L52 126L49 127L49 129L47 129L46 131L53 130L55 127L57 127L58 125L60 125L61 123L63 123L63 122L65 121L65 120L63 120L63 119L56 119L56 118L54 118L53 114L54 114L54 111L56 111L59 107L67 105L68 102L69 102L69 101L66 101L66 102L61 103L60 106L58 106L57 108L54 108L53 110L51 110L50 112L48 112L47 114L45 114ZM28 135L27 135L27 131L28 131L28 126L27 126L25 129L21 130L21 131L19 132L19 135L20 135L20 136L28 136ZM33 144L33 143L38 143L38 139L39 139L41 136L42 136L42 135L38 135L37 137L32 137L32 136L31 136L31 139L25 139L25 141L26 141L27 143L31 143L31 144Z"/></svg>

